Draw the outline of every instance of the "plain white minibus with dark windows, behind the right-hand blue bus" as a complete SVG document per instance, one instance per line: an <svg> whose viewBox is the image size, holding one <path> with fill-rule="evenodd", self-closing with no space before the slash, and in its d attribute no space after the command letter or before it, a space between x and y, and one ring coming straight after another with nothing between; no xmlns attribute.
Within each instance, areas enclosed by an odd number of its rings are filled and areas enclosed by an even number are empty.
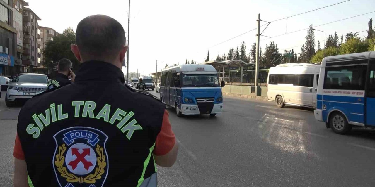
<svg viewBox="0 0 375 187"><path fill-rule="evenodd" d="M270 68L267 96L278 107L285 104L316 108L320 65L279 64Z"/></svg>

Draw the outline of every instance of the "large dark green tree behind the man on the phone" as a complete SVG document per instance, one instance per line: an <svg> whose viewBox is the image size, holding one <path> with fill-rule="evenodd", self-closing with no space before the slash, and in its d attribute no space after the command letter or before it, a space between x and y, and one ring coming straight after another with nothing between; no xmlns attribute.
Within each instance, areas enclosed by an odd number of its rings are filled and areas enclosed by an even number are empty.
<svg viewBox="0 0 375 187"><path fill-rule="evenodd" d="M80 62L75 58L70 45L75 43L75 32L72 28L66 28L62 34L53 37L45 43L42 64L47 68L54 68L60 59L66 58L72 61L73 70L77 70Z"/></svg>

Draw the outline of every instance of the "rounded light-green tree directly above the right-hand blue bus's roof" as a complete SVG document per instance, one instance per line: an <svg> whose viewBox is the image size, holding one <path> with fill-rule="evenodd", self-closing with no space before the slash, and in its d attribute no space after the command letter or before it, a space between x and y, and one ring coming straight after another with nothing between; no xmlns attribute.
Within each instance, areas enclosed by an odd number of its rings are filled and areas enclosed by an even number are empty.
<svg viewBox="0 0 375 187"><path fill-rule="evenodd" d="M340 47L340 54L351 54L366 52L369 48L369 43L360 38L351 38L347 42L343 43Z"/></svg>

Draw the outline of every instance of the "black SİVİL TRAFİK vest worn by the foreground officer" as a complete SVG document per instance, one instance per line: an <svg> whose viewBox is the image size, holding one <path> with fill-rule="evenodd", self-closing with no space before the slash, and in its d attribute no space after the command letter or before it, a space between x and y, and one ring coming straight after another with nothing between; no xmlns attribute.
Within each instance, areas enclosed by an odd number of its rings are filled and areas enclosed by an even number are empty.
<svg viewBox="0 0 375 187"><path fill-rule="evenodd" d="M84 62L75 82L24 105L17 132L34 187L156 186L152 151L165 105Z"/></svg>

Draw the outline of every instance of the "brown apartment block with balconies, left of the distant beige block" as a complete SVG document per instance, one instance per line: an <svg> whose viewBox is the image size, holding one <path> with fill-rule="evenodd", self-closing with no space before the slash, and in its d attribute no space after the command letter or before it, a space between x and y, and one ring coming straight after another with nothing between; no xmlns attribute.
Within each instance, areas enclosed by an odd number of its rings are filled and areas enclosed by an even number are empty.
<svg viewBox="0 0 375 187"><path fill-rule="evenodd" d="M23 56L22 64L27 65L29 68L27 72L33 73L34 67L40 67L40 32L38 31L38 21L41 19L33 10L24 7L23 9Z"/></svg>

